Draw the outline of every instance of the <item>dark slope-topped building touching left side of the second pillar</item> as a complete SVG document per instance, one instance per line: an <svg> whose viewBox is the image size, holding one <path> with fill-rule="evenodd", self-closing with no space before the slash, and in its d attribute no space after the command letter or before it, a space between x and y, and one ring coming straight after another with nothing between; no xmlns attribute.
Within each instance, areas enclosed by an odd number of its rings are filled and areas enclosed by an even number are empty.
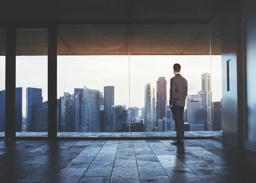
<svg viewBox="0 0 256 183"><path fill-rule="evenodd" d="M35 132L48 132L48 101L38 104L34 128Z"/></svg>

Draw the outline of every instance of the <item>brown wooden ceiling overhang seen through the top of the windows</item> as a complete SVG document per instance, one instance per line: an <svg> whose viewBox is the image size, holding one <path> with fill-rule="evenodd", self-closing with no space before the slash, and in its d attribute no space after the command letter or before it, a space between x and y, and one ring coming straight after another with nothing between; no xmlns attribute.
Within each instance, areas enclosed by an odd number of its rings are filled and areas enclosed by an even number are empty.
<svg viewBox="0 0 256 183"><path fill-rule="evenodd" d="M59 25L58 55L209 55L210 37L221 54L212 25ZM16 39L17 55L47 55L47 29L17 29ZM4 47L0 31L0 55Z"/></svg>

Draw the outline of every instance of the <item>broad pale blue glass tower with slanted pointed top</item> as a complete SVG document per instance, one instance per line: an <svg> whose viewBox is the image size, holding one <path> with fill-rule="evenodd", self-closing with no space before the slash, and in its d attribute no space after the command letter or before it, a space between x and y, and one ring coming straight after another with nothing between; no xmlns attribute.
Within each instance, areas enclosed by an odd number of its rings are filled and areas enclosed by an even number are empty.
<svg viewBox="0 0 256 183"><path fill-rule="evenodd" d="M84 87L82 132L100 132L100 92Z"/></svg>

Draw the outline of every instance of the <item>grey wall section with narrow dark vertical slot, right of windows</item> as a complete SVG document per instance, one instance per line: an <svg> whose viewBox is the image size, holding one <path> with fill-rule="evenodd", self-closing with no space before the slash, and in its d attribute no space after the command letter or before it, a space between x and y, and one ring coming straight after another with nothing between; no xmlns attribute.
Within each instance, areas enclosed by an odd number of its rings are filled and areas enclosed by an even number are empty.
<svg viewBox="0 0 256 183"><path fill-rule="evenodd" d="M227 5L227 4L226 4ZM229 11L221 16L221 65L222 65L222 107L223 142L238 147L238 93L237 93L237 15L236 3L227 5ZM224 8L225 9L225 8ZM229 62L229 67L227 66ZM229 70L229 76L227 71ZM229 91L228 81L229 78Z"/></svg>

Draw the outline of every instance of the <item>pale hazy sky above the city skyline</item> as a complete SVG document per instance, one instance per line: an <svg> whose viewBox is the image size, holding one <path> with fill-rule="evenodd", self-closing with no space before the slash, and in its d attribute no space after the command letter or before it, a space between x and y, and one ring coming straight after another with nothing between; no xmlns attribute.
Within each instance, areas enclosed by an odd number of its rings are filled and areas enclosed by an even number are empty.
<svg viewBox="0 0 256 183"><path fill-rule="evenodd" d="M130 56L130 106L144 106L144 87L151 83L155 88L158 77L167 81L174 76L172 66L181 65L181 75L188 80L188 94L201 90L201 74L212 74L212 101L220 101L221 56ZM58 97L74 88L104 91L104 86L115 86L115 104L129 107L129 56L58 56ZM47 101L47 56L16 57L16 87L23 87L23 115L26 115L26 88L42 88ZM0 56L0 90L5 90L5 57Z"/></svg>

